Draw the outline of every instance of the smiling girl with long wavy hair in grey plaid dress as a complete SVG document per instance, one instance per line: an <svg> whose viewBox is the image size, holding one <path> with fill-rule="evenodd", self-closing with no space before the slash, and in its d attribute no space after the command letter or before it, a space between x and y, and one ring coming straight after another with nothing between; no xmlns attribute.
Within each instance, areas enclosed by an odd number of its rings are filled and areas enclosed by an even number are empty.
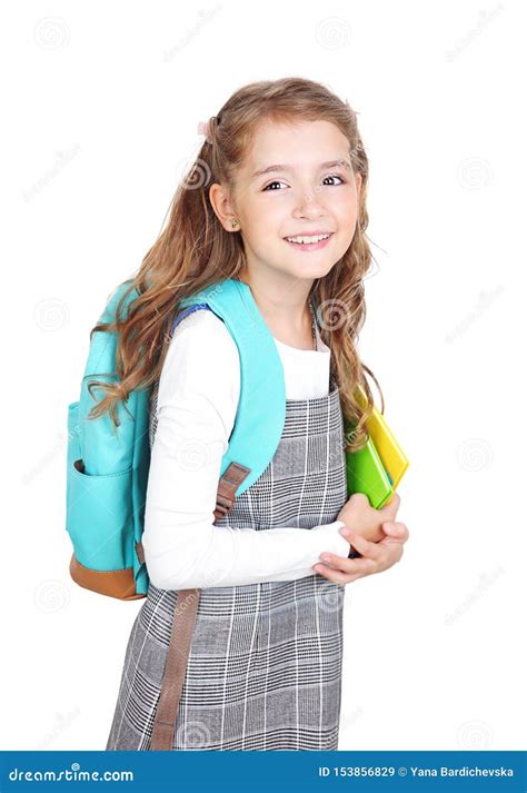
<svg viewBox="0 0 527 793"><path fill-rule="evenodd" d="M130 287L141 294L121 325L121 381L98 406L111 412L153 386L150 587L107 749L150 749L177 594L202 587L172 747L336 750L344 585L398 562L408 537L397 495L376 511L346 490L344 453L365 443L369 415L357 383L374 404L355 346L371 258L368 160L348 103L300 78L241 88L203 130ZM240 394L237 347L209 310L166 330L180 298L229 278L275 339L286 420L267 469L213 521Z"/></svg>

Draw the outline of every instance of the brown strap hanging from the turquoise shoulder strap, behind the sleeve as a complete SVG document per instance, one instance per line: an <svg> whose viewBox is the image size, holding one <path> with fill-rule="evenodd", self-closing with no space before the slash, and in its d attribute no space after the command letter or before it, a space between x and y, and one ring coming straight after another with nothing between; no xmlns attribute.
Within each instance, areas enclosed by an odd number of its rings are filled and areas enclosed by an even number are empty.
<svg viewBox="0 0 527 793"><path fill-rule="evenodd" d="M250 474L238 463L231 463L218 484L215 518L226 515L236 500L238 486ZM137 544L141 545L140 543ZM136 547L137 547L136 546ZM138 553L142 554L142 545ZM173 749L173 734L178 715L179 701L187 673L190 644L192 641L196 615L198 613L201 589L179 589L175 605L170 646L165 663L163 681L153 720L150 750L170 751Z"/></svg>

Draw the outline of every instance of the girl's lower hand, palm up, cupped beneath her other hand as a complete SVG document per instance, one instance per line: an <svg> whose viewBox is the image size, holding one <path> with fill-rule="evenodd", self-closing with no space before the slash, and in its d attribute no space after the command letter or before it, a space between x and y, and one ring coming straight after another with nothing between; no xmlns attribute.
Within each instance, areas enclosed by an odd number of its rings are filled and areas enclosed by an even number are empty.
<svg viewBox="0 0 527 793"><path fill-rule="evenodd" d="M410 536L407 526L396 522L384 523L382 533L385 536L380 542L371 543L357 532L348 529L346 539L349 539L362 557L348 559L337 554L320 554L320 558L327 564L318 563L312 569L335 584L350 584L366 575L382 573L400 561L402 545Z"/></svg>

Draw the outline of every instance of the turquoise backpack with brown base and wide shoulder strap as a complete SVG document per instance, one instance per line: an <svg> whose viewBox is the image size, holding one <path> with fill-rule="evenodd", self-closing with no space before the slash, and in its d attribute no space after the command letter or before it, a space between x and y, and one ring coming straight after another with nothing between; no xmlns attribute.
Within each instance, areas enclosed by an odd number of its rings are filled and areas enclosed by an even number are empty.
<svg viewBox="0 0 527 793"><path fill-rule="evenodd" d="M116 318L130 281L113 293L100 323ZM125 308L137 296L128 296ZM232 506L264 473L284 429L284 369L272 336L247 284L225 279L183 298L176 325L188 313L212 310L227 325L240 356L240 399L229 446L221 462L217 516ZM73 545L70 574L88 589L120 599L148 592L141 537L150 467L151 387L133 390L118 404L120 425L106 413L88 419L97 396L90 380L117 381L117 333L92 334L80 398L68 406L66 529ZM97 390L97 389L93 389Z"/></svg>

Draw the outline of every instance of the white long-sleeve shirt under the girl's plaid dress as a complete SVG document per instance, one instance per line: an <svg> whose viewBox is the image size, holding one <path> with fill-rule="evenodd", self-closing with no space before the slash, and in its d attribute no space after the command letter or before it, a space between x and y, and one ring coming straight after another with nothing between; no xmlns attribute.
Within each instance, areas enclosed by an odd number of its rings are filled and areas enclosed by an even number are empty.
<svg viewBox="0 0 527 793"><path fill-rule="evenodd" d="M330 350L318 328L317 336L317 350L275 339L288 399L328 394ZM316 575L321 553L349 553L342 521L265 532L213 525L239 394L233 338L212 311L193 311L176 327L159 379L142 535L148 574L159 588L294 581Z"/></svg>

